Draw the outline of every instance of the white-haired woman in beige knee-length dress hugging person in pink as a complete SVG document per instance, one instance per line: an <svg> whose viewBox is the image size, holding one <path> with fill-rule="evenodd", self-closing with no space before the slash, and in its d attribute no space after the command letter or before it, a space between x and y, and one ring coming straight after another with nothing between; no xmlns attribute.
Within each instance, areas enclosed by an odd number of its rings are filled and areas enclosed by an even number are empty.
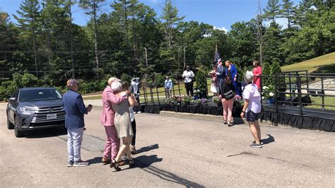
<svg viewBox="0 0 335 188"><path fill-rule="evenodd" d="M118 96L124 95L129 88L127 83L120 83L119 81L115 81L111 85L112 90L117 93ZM129 168L134 166L134 160L131 158L130 144L133 134L133 129L131 128L131 119L129 106L133 106L136 104L136 100L134 95L130 95L128 100L124 100L117 105L112 104L113 110L115 112L114 117L114 126L117 130L117 137L122 139L122 145L119 148L119 152L117 153L117 157L110 163L110 168L114 168L115 170L121 170L119 168L119 162L121 161L124 153L127 154L129 160Z"/></svg>

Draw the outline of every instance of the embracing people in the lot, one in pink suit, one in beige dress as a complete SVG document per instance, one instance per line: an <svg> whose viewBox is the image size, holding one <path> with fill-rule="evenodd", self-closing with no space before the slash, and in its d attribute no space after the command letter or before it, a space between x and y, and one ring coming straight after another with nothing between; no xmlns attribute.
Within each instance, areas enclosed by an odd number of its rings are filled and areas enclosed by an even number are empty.
<svg viewBox="0 0 335 188"><path fill-rule="evenodd" d="M132 109L138 103L128 88L127 83L121 83L118 78L110 78L102 93L103 109L100 122L107 135L102 163L110 164L110 168L117 171L121 170L119 165L124 154L129 160L129 168L132 168L134 160L131 153L136 153L136 122Z"/></svg>

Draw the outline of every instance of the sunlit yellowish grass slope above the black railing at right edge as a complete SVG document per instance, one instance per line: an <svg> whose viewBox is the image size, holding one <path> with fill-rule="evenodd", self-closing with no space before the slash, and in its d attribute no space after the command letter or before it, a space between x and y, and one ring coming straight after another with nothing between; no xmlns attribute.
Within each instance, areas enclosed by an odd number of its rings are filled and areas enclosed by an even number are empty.
<svg viewBox="0 0 335 188"><path fill-rule="evenodd" d="M330 54L325 54L320 57L316 57L314 59L310 59L307 61L302 61L297 64L290 64L287 66L282 66L281 71L304 71L308 70L308 72L312 72L316 70L318 66L324 66L329 64L335 64L335 52Z"/></svg>

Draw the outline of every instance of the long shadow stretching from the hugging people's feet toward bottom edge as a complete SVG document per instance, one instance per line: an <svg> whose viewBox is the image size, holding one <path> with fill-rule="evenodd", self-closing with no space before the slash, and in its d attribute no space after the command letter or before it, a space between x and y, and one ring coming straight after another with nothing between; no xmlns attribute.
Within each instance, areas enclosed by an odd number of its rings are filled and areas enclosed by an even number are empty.
<svg viewBox="0 0 335 188"><path fill-rule="evenodd" d="M190 180L186 180L178 175L175 175L172 172L167 172L166 170L162 170L160 168L155 168L151 166L153 163L159 163L163 160L163 158L158 158L157 155L141 155L138 158L134 158L135 167L141 168L152 175L159 177L162 180L168 182L174 182L176 184L183 185L185 187L204 187L204 185L198 184L196 182L192 182Z"/></svg>

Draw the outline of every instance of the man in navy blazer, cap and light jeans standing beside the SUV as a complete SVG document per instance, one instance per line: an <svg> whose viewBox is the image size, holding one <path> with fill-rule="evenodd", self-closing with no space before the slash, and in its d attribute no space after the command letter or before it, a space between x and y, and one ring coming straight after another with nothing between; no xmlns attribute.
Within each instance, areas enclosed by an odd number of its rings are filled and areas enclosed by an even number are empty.
<svg viewBox="0 0 335 188"><path fill-rule="evenodd" d="M88 162L81 160L81 141L85 127L84 114L92 110L92 105L85 107L81 94L77 93L79 82L71 79L66 86L69 90L61 101L66 112L65 127L67 128L67 148L69 154L68 167L87 166Z"/></svg>

